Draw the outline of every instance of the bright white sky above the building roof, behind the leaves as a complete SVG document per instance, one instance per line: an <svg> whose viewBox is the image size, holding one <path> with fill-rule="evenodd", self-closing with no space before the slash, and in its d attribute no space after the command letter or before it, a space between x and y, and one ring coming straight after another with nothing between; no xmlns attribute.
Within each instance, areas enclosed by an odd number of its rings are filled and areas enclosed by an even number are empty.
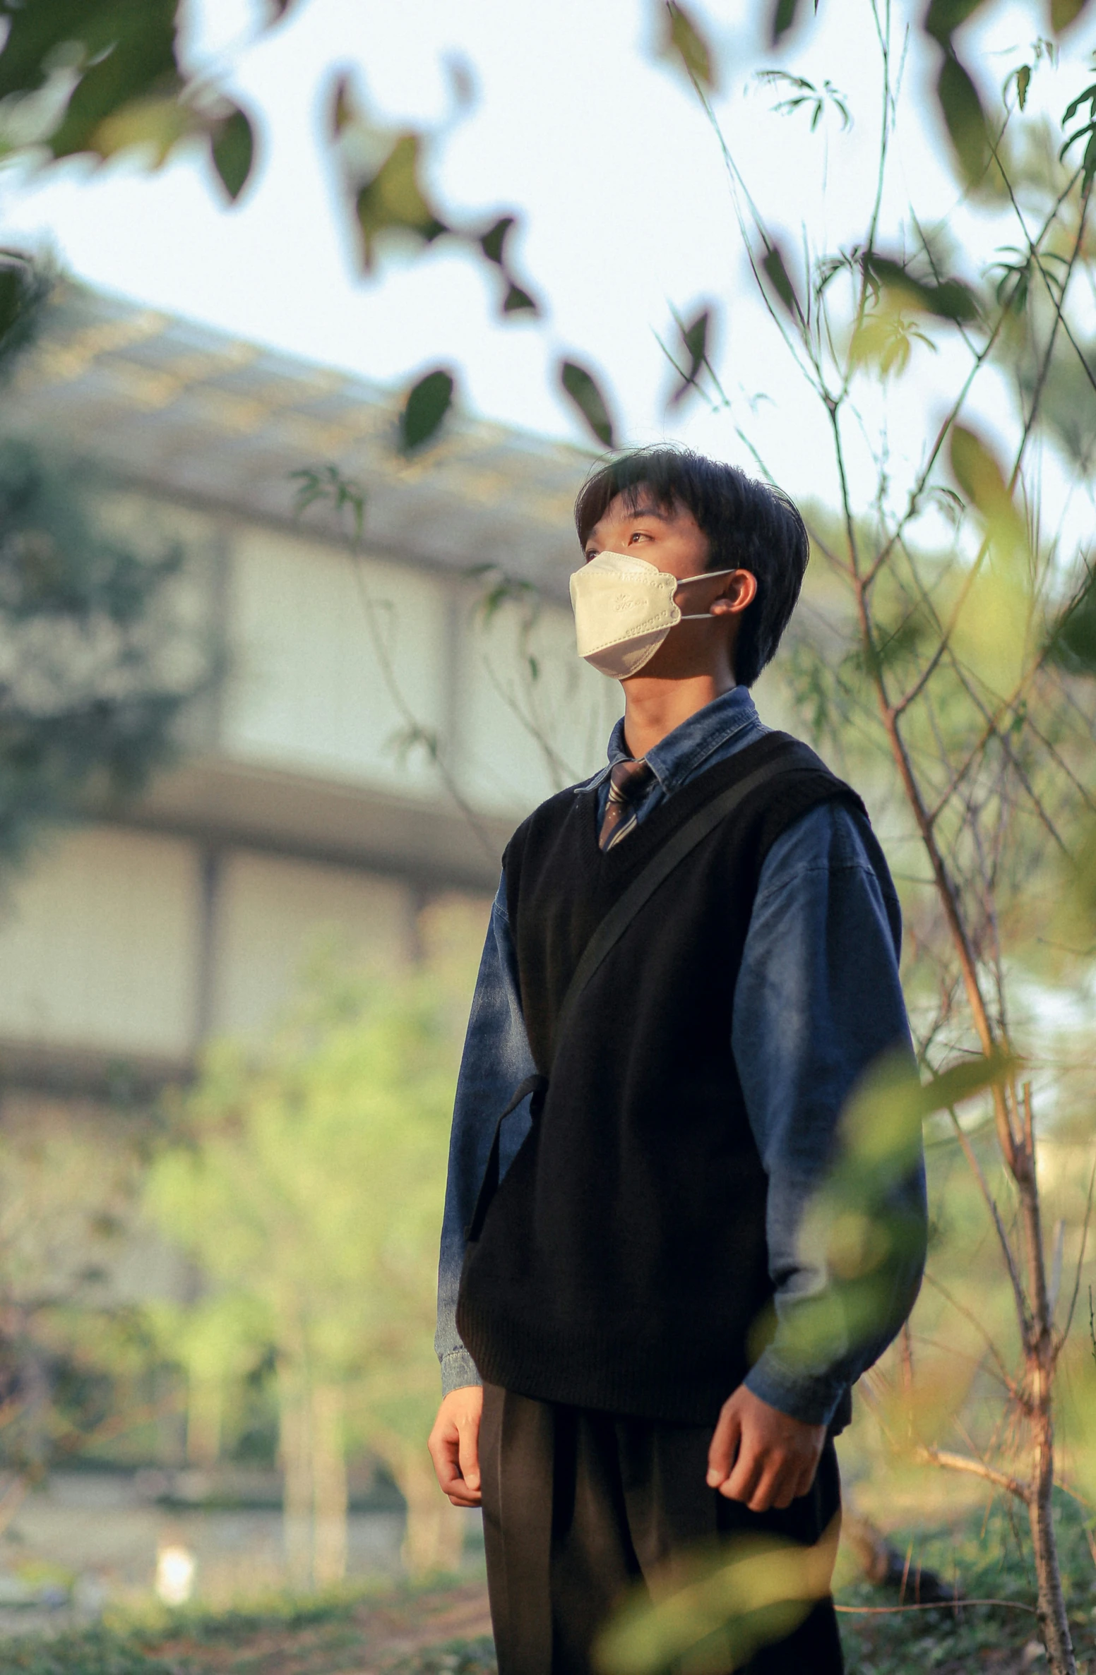
<svg viewBox="0 0 1096 1675"><path fill-rule="evenodd" d="M749 466L727 414L711 415L699 402L665 412L670 374L654 330L670 328L670 305L689 315L701 300L717 300L719 368L734 417L788 489L833 499L826 436L752 295L714 136L684 79L650 54L655 0L297 0L283 25L255 35L260 10L250 0L199 0L189 12L191 50L226 69L258 116L261 161L236 208L223 206L194 156L158 174L124 159L99 171L75 161L37 179L7 176L3 238L45 240L92 285L385 382L456 365L473 410L585 439L555 387L566 353L602 377L623 441L669 436ZM848 245L863 233L875 179L878 55L868 0L823 0L816 22L804 5L808 22L779 60L761 40L761 10L756 0L694 3L721 55L721 121L791 253L804 228L814 250ZM920 10L922 0L895 0L898 39ZM989 92L1029 57L1041 12L1017 0L977 37ZM1026 121L1044 112L1057 127L1091 79L1089 35L1069 40L1057 72L1039 69ZM511 256L548 303L541 322L501 323L494 275L458 250L395 253L372 280L355 268L323 141L332 77L352 70L374 114L441 126L452 114L452 54L471 67L478 99L439 139L437 198L451 216L484 223L523 213ZM779 95L754 79L773 62L818 84L830 79L848 97L851 129L841 132L830 116L811 136L804 112L774 114ZM957 206L933 75L913 32L885 228L897 228L912 201L925 221L947 218L989 255L1017 243L1019 231ZM907 379L871 412L876 429L888 424L898 474L959 370L947 330L933 335L940 352L918 350ZM990 429L1000 422L990 384L974 410Z"/></svg>

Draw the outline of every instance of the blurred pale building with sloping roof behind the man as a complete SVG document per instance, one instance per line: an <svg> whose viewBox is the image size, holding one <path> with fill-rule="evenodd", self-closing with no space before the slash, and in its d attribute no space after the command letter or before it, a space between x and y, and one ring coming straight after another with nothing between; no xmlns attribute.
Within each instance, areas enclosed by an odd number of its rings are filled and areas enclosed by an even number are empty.
<svg viewBox="0 0 1096 1675"><path fill-rule="evenodd" d="M602 757L617 688L575 658L566 608L587 456L456 420L407 461L395 412L126 302L65 286L52 307L5 429L92 461L134 548L184 544L183 605L228 675L137 804L52 829L13 873L8 1090L181 1077L208 1037L268 1030L323 938L412 958L421 904L488 898L521 814ZM367 496L357 556L328 506L293 509L293 472L328 464Z"/></svg>

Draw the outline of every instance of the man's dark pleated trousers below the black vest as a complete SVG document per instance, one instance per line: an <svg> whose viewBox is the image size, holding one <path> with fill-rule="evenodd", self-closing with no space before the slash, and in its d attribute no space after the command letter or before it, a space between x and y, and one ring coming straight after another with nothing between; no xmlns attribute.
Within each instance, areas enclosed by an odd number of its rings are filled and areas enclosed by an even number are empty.
<svg viewBox="0 0 1096 1675"><path fill-rule="evenodd" d="M709 1489L711 1427L615 1419L484 1385L479 1429L488 1591L499 1675L588 1675L635 1585L742 1533L813 1546L841 1506L833 1442L809 1494L751 1513ZM741 1667L841 1675L833 1600Z"/></svg>

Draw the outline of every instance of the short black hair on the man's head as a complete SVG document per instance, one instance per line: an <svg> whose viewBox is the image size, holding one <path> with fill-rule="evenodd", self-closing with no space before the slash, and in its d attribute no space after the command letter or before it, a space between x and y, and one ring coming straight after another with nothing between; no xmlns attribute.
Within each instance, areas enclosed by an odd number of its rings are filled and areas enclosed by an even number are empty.
<svg viewBox="0 0 1096 1675"><path fill-rule="evenodd" d="M635 508L649 489L662 508L684 506L707 536L709 570L749 570L757 596L742 611L734 673L742 687L773 658L788 626L809 556L803 518L783 489L687 447L637 447L595 466L575 501L575 528L587 546L612 501Z"/></svg>

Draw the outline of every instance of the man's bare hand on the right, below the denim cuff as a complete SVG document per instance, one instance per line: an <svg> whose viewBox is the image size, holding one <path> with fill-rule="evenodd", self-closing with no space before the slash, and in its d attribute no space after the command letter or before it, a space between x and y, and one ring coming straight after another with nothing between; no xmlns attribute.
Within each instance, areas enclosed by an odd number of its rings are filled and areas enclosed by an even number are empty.
<svg viewBox="0 0 1096 1675"><path fill-rule="evenodd" d="M751 1513L781 1511L814 1482L825 1425L806 1425L737 1387L721 1409L707 1451L707 1486Z"/></svg>

